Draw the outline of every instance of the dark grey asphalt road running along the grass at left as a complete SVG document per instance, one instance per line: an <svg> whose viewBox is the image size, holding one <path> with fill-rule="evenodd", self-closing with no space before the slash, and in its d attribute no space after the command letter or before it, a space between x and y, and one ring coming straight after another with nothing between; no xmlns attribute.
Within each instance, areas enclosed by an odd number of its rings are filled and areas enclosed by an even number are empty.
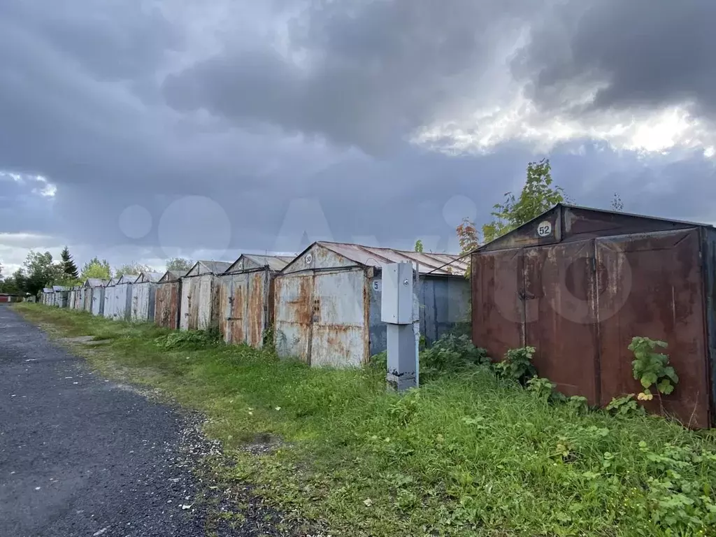
<svg viewBox="0 0 716 537"><path fill-rule="evenodd" d="M186 427L0 305L0 536L204 536Z"/></svg>

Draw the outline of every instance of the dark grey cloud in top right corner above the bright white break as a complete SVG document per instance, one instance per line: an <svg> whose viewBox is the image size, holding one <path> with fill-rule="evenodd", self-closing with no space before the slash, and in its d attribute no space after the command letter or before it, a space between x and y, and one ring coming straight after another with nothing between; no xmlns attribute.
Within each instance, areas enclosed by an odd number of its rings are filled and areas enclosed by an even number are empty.
<svg viewBox="0 0 716 537"><path fill-rule="evenodd" d="M533 28L514 64L548 109L574 87L601 89L587 110L693 104L716 119L716 2L572 0ZM577 107L576 113L584 112Z"/></svg>

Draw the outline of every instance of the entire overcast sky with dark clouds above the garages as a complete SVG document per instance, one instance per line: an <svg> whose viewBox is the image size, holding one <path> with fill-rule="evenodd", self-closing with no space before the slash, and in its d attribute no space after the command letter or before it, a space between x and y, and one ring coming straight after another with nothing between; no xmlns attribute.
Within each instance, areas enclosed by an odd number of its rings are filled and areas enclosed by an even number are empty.
<svg viewBox="0 0 716 537"><path fill-rule="evenodd" d="M2 0L0 263L455 251L530 160L716 222L713 0Z"/></svg>

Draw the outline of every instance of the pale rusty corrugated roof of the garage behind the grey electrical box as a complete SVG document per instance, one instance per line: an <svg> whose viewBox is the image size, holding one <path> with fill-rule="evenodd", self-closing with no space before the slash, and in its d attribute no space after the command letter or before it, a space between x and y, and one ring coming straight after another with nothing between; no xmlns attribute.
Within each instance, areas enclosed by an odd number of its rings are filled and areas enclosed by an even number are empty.
<svg viewBox="0 0 716 537"><path fill-rule="evenodd" d="M400 263L401 261L418 263L420 274L464 276L469 261L469 258L456 261L460 256L449 253L414 252L328 241L318 241L318 244L363 266L380 268L387 263Z"/></svg>

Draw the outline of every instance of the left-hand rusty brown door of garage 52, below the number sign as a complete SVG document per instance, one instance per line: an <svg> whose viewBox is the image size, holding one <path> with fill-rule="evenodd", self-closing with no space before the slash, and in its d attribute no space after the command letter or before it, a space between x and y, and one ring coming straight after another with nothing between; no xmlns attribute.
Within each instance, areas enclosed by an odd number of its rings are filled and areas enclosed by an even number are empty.
<svg viewBox="0 0 716 537"><path fill-rule="evenodd" d="M592 241L488 251L473 263L473 341L491 357L535 347L539 374L599 402Z"/></svg>

